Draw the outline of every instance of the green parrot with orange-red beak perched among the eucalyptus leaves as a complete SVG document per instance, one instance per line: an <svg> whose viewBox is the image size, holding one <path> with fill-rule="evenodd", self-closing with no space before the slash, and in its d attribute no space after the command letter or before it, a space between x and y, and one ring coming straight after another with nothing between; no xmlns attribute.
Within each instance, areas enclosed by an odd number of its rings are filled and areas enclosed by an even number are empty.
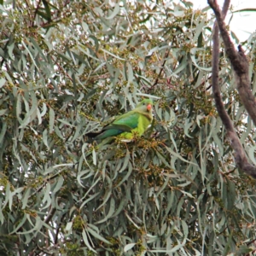
<svg viewBox="0 0 256 256"><path fill-rule="evenodd" d="M153 120L152 107L152 100L145 99L133 110L120 115L112 123L104 126L102 131L90 132L86 135L96 140L114 136L131 140L136 134L141 137Z"/></svg>

